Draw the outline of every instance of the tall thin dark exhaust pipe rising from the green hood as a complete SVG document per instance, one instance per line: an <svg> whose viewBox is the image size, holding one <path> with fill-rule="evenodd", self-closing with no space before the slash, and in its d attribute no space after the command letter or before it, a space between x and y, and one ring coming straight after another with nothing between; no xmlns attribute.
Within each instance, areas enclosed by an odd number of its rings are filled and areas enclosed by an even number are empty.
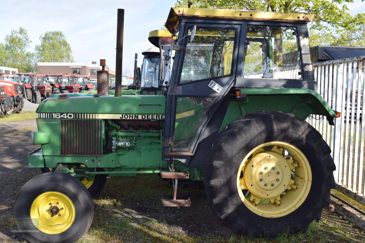
<svg viewBox="0 0 365 243"><path fill-rule="evenodd" d="M116 23L115 97L122 96L124 9L118 8Z"/></svg>

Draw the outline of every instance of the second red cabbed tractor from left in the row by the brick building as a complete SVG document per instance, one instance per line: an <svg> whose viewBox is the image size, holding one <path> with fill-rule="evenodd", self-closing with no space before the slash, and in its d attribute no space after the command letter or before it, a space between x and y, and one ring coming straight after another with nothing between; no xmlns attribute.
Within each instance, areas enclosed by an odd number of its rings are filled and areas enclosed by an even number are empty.
<svg viewBox="0 0 365 243"><path fill-rule="evenodd" d="M50 83L46 83L46 81L51 80L53 82L53 76L51 78L43 76L41 74L36 74L33 77L32 83L32 102L39 104L41 103L42 99L46 99L47 97L51 97L53 91L53 86ZM57 81L57 77L56 77ZM59 93L59 89L55 88L55 91Z"/></svg>

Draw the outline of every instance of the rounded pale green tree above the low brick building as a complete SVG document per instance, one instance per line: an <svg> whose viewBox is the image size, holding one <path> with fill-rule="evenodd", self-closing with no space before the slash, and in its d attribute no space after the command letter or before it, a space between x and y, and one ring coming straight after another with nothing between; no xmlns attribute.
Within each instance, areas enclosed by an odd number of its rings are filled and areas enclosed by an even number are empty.
<svg viewBox="0 0 365 243"><path fill-rule="evenodd" d="M47 31L39 37L40 45L35 46L37 61L73 62L72 50L61 31Z"/></svg>

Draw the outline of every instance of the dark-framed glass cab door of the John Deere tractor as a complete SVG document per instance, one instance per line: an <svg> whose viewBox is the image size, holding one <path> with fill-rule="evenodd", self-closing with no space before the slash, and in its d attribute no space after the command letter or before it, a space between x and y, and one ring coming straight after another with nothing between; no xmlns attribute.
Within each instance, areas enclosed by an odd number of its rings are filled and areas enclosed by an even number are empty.
<svg viewBox="0 0 365 243"><path fill-rule="evenodd" d="M235 79L241 23L189 21L183 19L180 26L178 36L185 37L177 44L185 50L176 51L173 57L167 90L164 159L189 159L194 155L202 130ZM189 33L194 25L191 41Z"/></svg>

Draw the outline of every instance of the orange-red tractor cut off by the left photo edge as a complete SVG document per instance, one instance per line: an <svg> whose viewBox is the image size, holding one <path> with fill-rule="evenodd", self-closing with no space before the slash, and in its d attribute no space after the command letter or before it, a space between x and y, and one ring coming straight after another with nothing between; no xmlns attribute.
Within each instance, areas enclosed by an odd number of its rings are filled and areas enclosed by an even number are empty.
<svg viewBox="0 0 365 243"><path fill-rule="evenodd" d="M18 76L0 73L0 84L4 87L3 107L7 114L20 113L24 107L24 100L19 88Z"/></svg>

